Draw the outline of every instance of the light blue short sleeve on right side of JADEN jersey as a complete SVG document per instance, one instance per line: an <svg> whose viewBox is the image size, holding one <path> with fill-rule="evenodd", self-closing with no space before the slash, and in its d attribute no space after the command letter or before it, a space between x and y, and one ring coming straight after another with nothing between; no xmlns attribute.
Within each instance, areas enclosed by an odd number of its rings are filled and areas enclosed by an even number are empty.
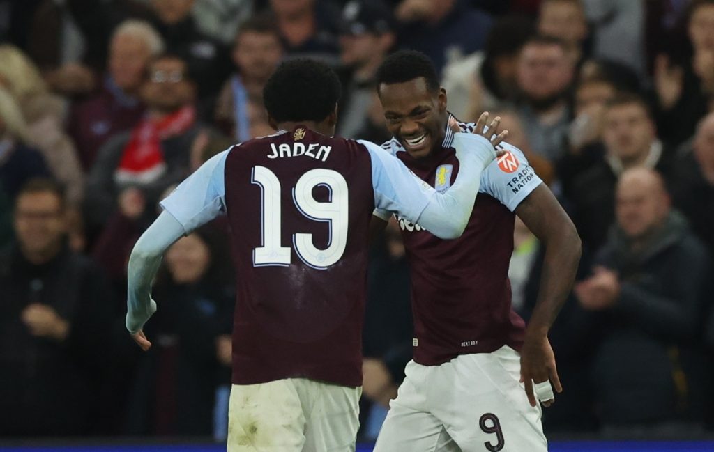
<svg viewBox="0 0 714 452"><path fill-rule="evenodd" d="M358 140L372 159L374 214L383 220L396 212L416 223L421 212L436 195L431 185L419 179L401 161L374 143Z"/></svg>

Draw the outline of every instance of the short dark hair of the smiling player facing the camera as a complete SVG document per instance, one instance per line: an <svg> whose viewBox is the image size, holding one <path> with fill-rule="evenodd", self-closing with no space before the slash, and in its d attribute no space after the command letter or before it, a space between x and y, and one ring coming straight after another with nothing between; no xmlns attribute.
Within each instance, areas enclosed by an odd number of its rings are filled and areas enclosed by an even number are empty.
<svg viewBox="0 0 714 452"><path fill-rule="evenodd" d="M384 59L377 70L377 89L382 85L404 83L415 78L423 78L426 88L432 93L439 91L439 77L436 75L431 58L413 50L401 50Z"/></svg>

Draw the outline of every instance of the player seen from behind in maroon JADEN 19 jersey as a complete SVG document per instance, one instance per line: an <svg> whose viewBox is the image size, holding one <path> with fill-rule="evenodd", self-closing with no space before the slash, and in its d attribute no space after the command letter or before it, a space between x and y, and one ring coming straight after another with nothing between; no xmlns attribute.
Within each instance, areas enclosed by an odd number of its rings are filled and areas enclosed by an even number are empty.
<svg viewBox="0 0 714 452"><path fill-rule="evenodd" d="M278 133L233 146L183 181L129 260L126 327L146 350L161 255L228 215L238 282L231 452L354 451L372 212L458 237L505 136L456 133L462 174L438 193L378 145L332 138L340 88L322 63L279 66L263 91Z"/></svg>

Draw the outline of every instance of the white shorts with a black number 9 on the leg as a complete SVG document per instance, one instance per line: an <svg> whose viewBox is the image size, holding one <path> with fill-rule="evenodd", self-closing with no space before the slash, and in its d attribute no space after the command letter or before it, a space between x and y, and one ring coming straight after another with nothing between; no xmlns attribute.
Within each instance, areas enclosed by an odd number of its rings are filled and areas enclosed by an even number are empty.
<svg viewBox="0 0 714 452"><path fill-rule="evenodd" d="M374 452L540 452L548 441L531 406L521 356L503 346L441 366L411 361Z"/></svg>

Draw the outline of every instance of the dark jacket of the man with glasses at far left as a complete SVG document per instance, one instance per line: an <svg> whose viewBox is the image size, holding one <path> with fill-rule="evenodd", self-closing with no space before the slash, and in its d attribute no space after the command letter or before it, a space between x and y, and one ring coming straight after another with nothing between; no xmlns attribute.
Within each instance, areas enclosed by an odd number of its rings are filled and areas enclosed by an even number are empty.
<svg viewBox="0 0 714 452"><path fill-rule="evenodd" d="M43 265L15 246L0 252L0 437L90 431L113 355L108 294L96 266L69 250ZM69 322L65 341L30 334L21 313L34 302Z"/></svg>

